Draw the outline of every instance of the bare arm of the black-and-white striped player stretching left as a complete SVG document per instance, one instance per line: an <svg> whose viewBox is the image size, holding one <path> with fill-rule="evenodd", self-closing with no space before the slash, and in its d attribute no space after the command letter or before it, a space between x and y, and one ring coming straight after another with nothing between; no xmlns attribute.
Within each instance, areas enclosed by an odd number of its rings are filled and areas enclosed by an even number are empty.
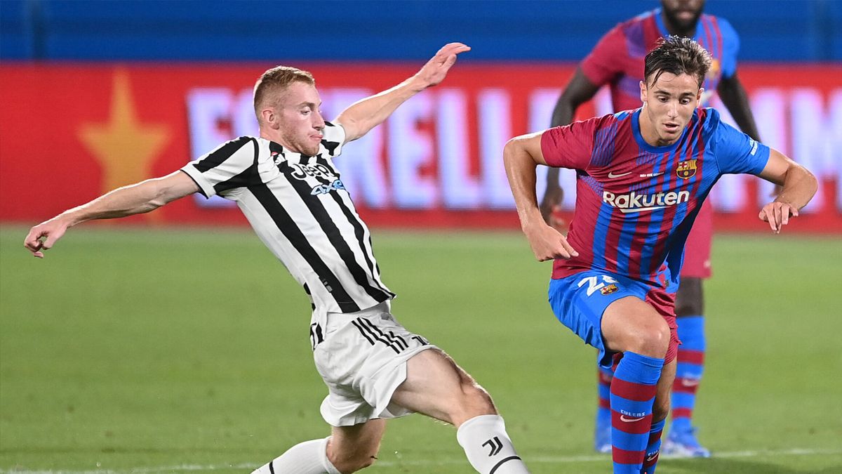
<svg viewBox="0 0 842 474"><path fill-rule="evenodd" d="M122 218L148 213L196 191L199 191L199 186L181 171L120 187L29 229L24 246L33 256L44 258L44 250L49 250L68 228L76 224L93 219Z"/></svg>

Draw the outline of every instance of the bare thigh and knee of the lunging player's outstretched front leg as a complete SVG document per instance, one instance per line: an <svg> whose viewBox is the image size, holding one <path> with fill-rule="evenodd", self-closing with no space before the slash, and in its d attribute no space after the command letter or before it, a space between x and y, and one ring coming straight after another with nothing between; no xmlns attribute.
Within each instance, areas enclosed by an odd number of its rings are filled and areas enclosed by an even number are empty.
<svg viewBox="0 0 842 474"><path fill-rule="evenodd" d="M392 394L392 402L456 426L497 412L488 393L439 348L408 360L407 378Z"/></svg>

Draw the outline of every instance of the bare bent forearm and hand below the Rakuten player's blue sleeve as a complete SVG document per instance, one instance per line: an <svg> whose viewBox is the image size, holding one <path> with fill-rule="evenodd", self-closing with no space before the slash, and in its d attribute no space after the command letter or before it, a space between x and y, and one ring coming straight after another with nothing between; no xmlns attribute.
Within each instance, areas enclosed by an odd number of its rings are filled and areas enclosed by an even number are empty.
<svg viewBox="0 0 842 474"><path fill-rule="evenodd" d="M769 223L772 232L780 234L783 226L789 224L789 218L797 217L798 211L813 199L818 181L807 168L774 148L770 148L769 161L759 176L782 186L775 201L760 209L758 216Z"/></svg>

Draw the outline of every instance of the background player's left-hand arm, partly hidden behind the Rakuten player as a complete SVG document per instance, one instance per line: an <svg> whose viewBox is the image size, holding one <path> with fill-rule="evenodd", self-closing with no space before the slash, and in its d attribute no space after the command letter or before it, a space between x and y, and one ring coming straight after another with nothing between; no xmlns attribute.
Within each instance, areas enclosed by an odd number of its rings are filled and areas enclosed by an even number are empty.
<svg viewBox="0 0 842 474"><path fill-rule="evenodd" d="M593 99L599 90L600 86L590 82L590 79L582 72L582 67L577 67L576 73L573 73L573 78L564 87L562 94L556 101L556 106L552 110L550 127L568 125L572 122L578 106ZM558 230L562 230L565 223L556 218L553 213L561 205L563 197L564 190L558 184L558 169L551 167L546 170L546 191L541 199L540 208L541 216L543 216L546 224L550 224Z"/></svg>

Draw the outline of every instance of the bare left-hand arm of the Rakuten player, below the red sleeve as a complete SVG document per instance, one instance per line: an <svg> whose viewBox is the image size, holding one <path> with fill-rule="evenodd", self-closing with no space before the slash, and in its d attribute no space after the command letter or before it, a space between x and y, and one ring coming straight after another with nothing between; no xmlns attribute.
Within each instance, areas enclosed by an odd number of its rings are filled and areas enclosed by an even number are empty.
<svg viewBox="0 0 842 474"><path fill-rule="evenodd" d="M518 209L520 228L538 261L578 256L564 235L544 222L538 209L535 168L537 164L546 164L541 153L542 133L514 137L503 148L503 162Z"/></svg>

